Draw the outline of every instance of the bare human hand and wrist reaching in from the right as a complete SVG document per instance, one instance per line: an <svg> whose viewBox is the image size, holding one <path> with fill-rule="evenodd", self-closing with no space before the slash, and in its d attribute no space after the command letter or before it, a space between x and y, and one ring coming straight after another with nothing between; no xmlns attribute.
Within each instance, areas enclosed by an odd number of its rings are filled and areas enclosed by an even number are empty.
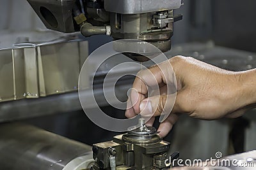
<svg viewBox="0 0 256 170"><path fill-rule="evenodd" d="M161 115L164 107L172 101L166 95L166 83L173 80L172 68L177 80L177 97L171 114L159 125L161 136L166 136L177 122L180 114L187 114L202 120L216 120L223 117L237 118L256 104L256 69L233 72L206 64L192 57L176 56L138 73L127 105L128 118L141 114L147 122L154 123L154 117ZM164 69L163 72L159 67ZM164 77L163 74L168 75ZM139 78L140 77L140 78ZM148 97L148 87L157 81L160 96ZM149 101L149 102L148 102ZM152 112L152 113L150 113Z"/></svg>

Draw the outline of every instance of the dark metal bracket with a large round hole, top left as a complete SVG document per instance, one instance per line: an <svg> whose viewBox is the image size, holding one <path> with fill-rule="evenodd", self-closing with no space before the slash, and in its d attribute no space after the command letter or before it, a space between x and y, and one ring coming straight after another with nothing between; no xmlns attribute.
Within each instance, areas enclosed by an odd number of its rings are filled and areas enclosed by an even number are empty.
<svg viewBox="0 0 256 170"><path fill-rule="evenodd" d="M76 0L28 0L28 3L48 29L61 32L76 31L72 17Z"/></svg>

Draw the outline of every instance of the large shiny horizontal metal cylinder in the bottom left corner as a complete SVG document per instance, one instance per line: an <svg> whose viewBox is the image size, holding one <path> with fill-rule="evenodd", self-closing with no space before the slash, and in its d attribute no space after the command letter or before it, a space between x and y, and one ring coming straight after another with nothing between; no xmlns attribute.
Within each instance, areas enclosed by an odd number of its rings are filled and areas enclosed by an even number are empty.
<svg viewBox="0 0 256 170"><path fill-rule="evenodd" d="M81 170L92 147L26 124L0 125L0 164L8 170Z"/></svg>

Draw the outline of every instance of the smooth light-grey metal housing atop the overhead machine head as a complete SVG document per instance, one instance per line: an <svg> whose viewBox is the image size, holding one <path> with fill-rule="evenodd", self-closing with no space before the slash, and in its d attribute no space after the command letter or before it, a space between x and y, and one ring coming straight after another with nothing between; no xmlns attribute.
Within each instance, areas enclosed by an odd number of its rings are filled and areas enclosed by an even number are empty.
<svg viewBox="0 0 256 170"><path fill-rule="evenodd" d="M174 10L180 8L182 4L182 0L104 0L106 11L122 14Z"/></svg>

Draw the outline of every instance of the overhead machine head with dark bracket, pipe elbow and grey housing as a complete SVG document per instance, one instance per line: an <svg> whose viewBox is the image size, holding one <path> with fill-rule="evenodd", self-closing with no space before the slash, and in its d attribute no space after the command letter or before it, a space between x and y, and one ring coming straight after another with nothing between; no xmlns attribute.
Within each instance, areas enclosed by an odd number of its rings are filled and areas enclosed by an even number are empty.
<svg viewBox="0 0 256 170"><path fill-rule="evenodd" d="M81 33L88 37L106 34L113 39L140 39L152 43L162 52L171 48L173 15L182 0L28 0L48 29ZM134 42L137 43L138 42ZM141 45L141 43L138 45ZM121 47L122 48L122 47ZM134 60L148 60L142 55L126 53Z"/></svg>

